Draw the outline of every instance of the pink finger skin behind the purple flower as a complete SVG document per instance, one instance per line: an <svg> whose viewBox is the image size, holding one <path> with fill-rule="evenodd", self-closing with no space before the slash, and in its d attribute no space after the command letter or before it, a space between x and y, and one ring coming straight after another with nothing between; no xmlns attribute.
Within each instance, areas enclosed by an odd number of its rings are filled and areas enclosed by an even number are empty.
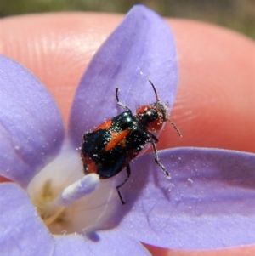
<svg viewBox="0 0 255 256"><path fill-rule="evenodd" d="M0 54L20 62L47 86L67 123L82 73L122 15L69 13L10 17L0 23ZM203 146L255 151L255 46L217 26L167 19L178 53L178 94L158 148ZM254 255L255 247L154 255ZM221 254L222 253L222 254Z"/></svg>

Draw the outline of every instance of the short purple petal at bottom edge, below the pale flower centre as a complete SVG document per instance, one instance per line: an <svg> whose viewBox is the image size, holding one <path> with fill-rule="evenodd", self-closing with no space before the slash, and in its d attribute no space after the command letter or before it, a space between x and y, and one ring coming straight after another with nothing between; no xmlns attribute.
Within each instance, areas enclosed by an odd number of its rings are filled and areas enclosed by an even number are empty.
<svg viewBox="0 0 255 256"><path fill-rule="evenodd" d="M120 255L149 256L141 243L118 230L101 231L89 240L79 235L54 236L54 256Z"/></svg>

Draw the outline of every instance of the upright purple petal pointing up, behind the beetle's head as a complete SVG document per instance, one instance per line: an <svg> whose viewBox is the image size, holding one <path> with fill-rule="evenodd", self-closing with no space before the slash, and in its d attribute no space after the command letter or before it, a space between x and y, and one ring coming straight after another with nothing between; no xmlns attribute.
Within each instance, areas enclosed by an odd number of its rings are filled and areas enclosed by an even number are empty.
<svg viewBox="0 0 255 256"><path fill-rule="evenodd" d="M85 131L123 111L116 104L116 88L120 88L120 101L133 111L155 102L149 78L171 108L178 79L173 34L161 17L137 5L94 55L82 77L69 123L73 145L81 145Z"/></svg>

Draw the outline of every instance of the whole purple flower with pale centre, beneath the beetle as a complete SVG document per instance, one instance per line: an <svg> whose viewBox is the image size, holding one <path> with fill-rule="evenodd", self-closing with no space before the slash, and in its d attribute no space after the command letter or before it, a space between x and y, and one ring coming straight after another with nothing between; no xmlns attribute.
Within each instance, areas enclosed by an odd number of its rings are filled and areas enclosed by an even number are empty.
<svg viewBox="0 0 255 256"><path fill-rule="evenodd" d="M1 255L149 255L140 242L212 249L255 242L254 154L199 148L152 153L99 181L84 176L82 134L123 111L155 101L150 78L171 109L178 69L169 27L134 7L94 56L77 88L68 133L57 105L23 67L0 57ZM174 131L173 131L174 136ZM35 208L36 207L36 208ZM43 220L43 222L42 222ZM47 227L46 227L47 226Z"/></svg>

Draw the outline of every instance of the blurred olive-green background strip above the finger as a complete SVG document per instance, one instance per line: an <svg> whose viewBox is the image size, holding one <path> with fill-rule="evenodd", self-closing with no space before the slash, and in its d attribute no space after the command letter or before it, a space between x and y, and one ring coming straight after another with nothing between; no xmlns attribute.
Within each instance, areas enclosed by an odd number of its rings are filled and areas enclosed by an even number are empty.
<svg viewBox="0 0 255 256"><path fill-rule="evenodd" d="M255 38L255 0L0 0L0 17L56 11L127 13L135 3L162 16L207 21Z"/></svg>

